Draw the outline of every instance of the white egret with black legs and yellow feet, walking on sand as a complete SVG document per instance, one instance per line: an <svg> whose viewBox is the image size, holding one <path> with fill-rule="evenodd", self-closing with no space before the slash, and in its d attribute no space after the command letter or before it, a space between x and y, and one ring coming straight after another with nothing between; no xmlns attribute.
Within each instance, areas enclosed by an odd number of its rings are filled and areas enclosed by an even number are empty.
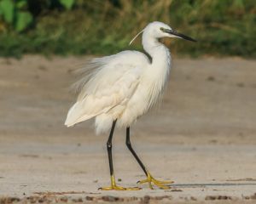
<svg viewBox="0 0 256 204"><path fill-rule="evenodd" d="M174 31L170 26L154 21L143 31L143 48L146 54L137 51L123 51L106 57L90 59L90 69L84 68L84 77L75 83L79 90L77 102L68 111L65 125L71 127L78 122L96 118L96 133L110 130L107 148L111 185L101 190L139 190L124 188L115 183L112 161L112 138L115 125L126 127L126 144L147 178L139 184L148 183L161 189L168 189L172 182L158 181L148 172L143 162L131 147L130 127L137 118L150 110L163 94L171 69L171 54L159 42L161 37L179 37L195 40ZM137 37L136 36L136 37ZM131 42L136 38L134 37ZM130 44L131 44L130 42Z"/></svg>

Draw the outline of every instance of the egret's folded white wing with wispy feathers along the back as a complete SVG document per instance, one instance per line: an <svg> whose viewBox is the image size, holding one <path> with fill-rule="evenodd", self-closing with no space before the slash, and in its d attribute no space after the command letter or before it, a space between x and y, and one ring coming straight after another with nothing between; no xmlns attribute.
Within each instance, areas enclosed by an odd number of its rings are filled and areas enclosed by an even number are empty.
<svg viewBox="0 0 256 204"><path fill-rule="evenodd" d="M89 78L85 77L86 82L83 79L79 82L79 97L68 111L65 122L67 126L106 113L116 105L125 104L137 89L148 58L139 52L125 51L92 59L92 62L97 64L97 68Z"/></svg>

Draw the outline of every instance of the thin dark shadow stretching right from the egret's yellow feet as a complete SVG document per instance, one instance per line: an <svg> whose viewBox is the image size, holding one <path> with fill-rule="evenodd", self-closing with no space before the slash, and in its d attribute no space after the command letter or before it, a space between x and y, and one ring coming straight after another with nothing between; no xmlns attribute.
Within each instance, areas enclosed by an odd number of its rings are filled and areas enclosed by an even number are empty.
<svg viewBox="0 0 256 204"><path fill-rule="evenodd" d="M241 186L241 185L255 185L256 183L217 183L217 184L170 184L170 187L179 187L179 188L202 188L207 186Z"/></svg>

